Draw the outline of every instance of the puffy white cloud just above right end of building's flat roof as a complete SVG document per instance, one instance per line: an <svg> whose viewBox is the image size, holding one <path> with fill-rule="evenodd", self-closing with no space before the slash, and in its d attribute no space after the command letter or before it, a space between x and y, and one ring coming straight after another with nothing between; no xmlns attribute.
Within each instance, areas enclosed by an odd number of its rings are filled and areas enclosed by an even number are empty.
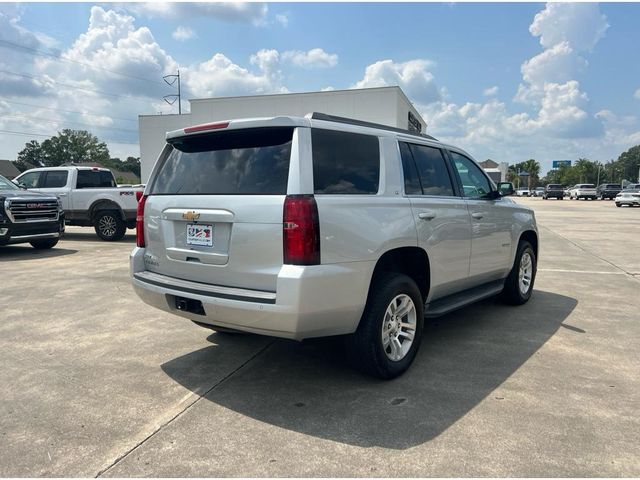
<svg viewBox="0 0 640 480"><path fill-rule="evenodd" d="M362 80L356 82L352 88L399 86L418 103L427 105L440 100L435 78L429 71L435 64L429 60L417 59L404 63L392 60L381 60L369 65Z"/></svg>

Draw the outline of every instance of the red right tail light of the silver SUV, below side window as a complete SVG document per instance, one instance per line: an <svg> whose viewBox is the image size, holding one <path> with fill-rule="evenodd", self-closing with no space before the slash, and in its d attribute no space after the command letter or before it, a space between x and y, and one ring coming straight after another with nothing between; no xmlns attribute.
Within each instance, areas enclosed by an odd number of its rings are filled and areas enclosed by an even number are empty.
<svg viewBox="0 0 640 480"><path fill-rule="evenodd" d="M288 195L283 216L284 263L320 264L320 223L313 195Z"/></svg>

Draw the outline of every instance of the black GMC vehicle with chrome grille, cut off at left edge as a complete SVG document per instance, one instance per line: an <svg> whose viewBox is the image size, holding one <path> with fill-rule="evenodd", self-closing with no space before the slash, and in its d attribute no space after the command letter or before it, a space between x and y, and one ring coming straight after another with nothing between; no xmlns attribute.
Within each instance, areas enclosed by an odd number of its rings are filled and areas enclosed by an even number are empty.
<svg viewBox="0 0 640 480"><path fill-rule="evenodd" d="M64 233L64 212L53 195L28 192L0 176L0 245L53 248Z"/></svg>

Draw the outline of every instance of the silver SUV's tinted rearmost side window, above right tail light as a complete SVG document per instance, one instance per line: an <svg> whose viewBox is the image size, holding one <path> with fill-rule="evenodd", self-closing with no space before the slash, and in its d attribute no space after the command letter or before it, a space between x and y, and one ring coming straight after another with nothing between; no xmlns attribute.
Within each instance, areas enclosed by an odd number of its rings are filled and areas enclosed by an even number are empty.
<svg viewBox="0 0 640 480"><path fill-rule="evenodd" d="M315 193L378 193L378 137L314 128L311 142Z"/></svg>

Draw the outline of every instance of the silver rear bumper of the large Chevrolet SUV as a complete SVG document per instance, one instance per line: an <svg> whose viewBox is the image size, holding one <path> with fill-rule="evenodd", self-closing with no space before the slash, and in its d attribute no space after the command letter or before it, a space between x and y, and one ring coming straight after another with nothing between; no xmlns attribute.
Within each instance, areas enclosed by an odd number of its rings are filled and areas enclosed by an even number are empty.
<svg viewBox="0 0 640 480"><path fill-rule="evenodd" d="M303 340L353 333L367 300L375 262L283 265L276 292L207 285L146 270L144 249L131 253L131 281L148 305L190 320ZM203 314L178 310L176 297L202 302Z"/></svg>

